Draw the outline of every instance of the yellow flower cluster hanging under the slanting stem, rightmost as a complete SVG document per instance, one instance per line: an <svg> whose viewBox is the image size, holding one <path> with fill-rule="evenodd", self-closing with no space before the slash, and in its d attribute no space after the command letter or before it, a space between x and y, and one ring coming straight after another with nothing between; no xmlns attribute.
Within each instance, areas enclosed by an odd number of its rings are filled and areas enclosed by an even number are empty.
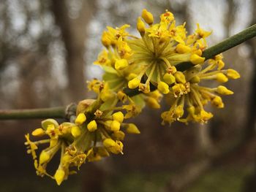
<svg viewBox="0 0 256 192"><path fill-rule="evenodd" d="M162 124L180 121L206 123L213 117L211 112L206 112L204 106L210 102L214 107L223 108L224 104L220 95L231 95L233 91L225 86L219 85L217 88L208 88L200 85L203 80L216 80L217 82L227 82L229 79L240 77L233 69L222 69L224 66L222 55L217 55L209 59L207 63L193 66L183 73L184 82L175 83L167 94L170 101L170 110L162 112ZM187 110L187 117L184 118Z"/></svg>

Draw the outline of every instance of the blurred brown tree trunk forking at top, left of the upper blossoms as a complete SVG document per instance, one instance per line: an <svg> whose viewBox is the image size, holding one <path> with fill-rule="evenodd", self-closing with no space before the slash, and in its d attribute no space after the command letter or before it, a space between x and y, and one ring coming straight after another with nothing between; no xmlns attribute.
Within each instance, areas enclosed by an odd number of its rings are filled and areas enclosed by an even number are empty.
<svg viewBox="0 0 256 192"><path fill-rule="evenodd" d="M79 101L85 97L86 26L89 26L91 15L94 12L93 3L93 1L83 0L78 18L70 18L67 4L64 1L52 0L53 15L61 29L62 39L67 50L68 102Z"/></svg>

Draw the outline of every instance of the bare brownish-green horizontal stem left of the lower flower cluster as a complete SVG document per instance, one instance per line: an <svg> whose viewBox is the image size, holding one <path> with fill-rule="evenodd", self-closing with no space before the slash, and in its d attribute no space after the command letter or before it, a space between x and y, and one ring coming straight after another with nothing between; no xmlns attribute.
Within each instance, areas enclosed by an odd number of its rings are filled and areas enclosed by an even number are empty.
<svg viewBox="0 0 256 192"><path fill-rule="evenodd" d="M65 118L66 107L52 107L31 110L0 110L0 120Z"/></svg>

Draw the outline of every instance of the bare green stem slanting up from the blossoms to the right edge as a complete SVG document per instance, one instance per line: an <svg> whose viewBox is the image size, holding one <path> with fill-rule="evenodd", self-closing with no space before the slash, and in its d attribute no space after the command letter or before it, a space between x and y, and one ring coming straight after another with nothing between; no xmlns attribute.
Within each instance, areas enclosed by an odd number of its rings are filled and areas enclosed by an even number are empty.
<svg viewBox="0 0 256 192"><path fill-rule="evenodd" d="M223 53L232 47L236 47L236 45L240 45L241 43L246 42L248 39L251 39L252 37L255 37L255 36L256 36L256 24L253 26L250 26L249 28L244 29L244 31L241 31L238 34L228 37L227 39L224 39L222 42L219 42L217 45L208 47L208 49L203 51L202 57L206 58L206 60L209 58L213 58L215 55L218 55L219 53ZM187 61L181 64L177 64L176 68L178 69L178 71L183 72L192 66L193 64Z"/></svg>

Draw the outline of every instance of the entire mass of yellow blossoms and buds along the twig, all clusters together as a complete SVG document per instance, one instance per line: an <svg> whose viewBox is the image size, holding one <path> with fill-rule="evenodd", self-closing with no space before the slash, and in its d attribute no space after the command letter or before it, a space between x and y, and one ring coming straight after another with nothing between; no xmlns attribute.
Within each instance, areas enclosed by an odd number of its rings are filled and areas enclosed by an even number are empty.
<svg viewBox="0 0 256 192"><path fill-rule="evenodd" d="M146 9L137 21L140 37L129 34L128 27L107 27L102 34L105 50L94 64L104 69L103 81L88 82L97 99L80 101L75 122L59 124L53 119L43 120L42 127L32 132L32 136L42 137L38 141L32 142L26 134L25 144L38 175L48 175L60 185L69 174L75 173L73 167L79 169L86 161L99 161L110 153L123 154L124 131L140 134L135 124L124 120L138 115L146 104L159 109L162 94L170 104L170 109L161 114L162 124L176 120L206 123L213 117L206 112L206 104L223 108L220 96L233 94L223 85L215 88L201 85L204 80L224 83L240 77L233 69L223 69L222 55L208 61L203 58L206 37L211 32L197 24L195 32L187 35L185 23L176 26L171 12L166 11L160 15L159 23L154 23L153 15ZM177 65L182 62L193 66L179 71ZM125 90L141 94L135 96ZM38 158L36 151L41 144L48 147ZM46 167L59 150L59 168L51 176Z"/></svg>

